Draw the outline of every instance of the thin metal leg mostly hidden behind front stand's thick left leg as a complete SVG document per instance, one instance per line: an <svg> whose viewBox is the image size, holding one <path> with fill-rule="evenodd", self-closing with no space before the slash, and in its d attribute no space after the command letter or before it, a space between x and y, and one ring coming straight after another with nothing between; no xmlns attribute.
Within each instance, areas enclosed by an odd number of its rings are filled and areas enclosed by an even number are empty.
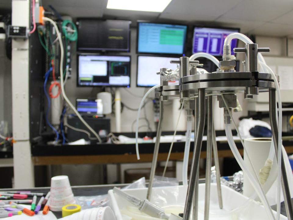
<svg viewBox="0 0 293 220"><path fill-rule="evenodd" d="M194 112L194 143L195 143L195 138L196 134L198 131L198 98L195 98L195 112ZM195 181L195 190L194 190L194 196L193 196L193 214L192 214L192 219L198 219L198 182L199 182L199 167L197 170L197 177Z"/></svg>

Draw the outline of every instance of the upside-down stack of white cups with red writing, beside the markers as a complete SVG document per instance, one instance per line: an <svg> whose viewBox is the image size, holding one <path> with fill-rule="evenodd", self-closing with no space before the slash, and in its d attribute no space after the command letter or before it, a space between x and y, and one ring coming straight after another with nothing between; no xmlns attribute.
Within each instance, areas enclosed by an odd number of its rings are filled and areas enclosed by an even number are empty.
<svg viewBox="0 0 293 220"><path fill-rule="evenodd" d="M49 198L50 210L61 211L63 206L69 204L75 204L75 200L68 176L52 177Z"/></svg>

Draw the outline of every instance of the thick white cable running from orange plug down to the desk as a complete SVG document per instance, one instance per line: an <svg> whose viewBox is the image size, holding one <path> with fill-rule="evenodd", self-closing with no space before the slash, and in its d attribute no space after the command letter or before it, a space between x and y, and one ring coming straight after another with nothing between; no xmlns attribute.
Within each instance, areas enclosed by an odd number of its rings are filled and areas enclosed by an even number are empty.
<svg viewBox="0 0 293 220"><path fill-rule="evenodd" d="M63 42L62 42L62 38L61 38L61 34L60 31L56 25L56 23L47 17L43 17L44 21L49 21L55 28L57 36L58 36L58 40L59 40L59 44L60 44L60 60L64 59L64 48L63 48ZM81 115L78 113L78 111L76 110L76 108L74 107L74 105L72 105L72 103L69 101L69 99L67 98L66 94L65 94L65 89L64 89L64 82L63 82L63 62L60 62L60 82L61 82L61 93L63 98L65 99L65 101L67 102L67 104L70 106L70 108L74 111L74 113L78 116L78 118L81 120L81 122L85 125L85 127L87 127L98 139L98 141L100 143L102 143L102 140L100 138L100 136L96 133L95 130L93 130L88 123L85 122L85 120L81 117Z"/></svg>

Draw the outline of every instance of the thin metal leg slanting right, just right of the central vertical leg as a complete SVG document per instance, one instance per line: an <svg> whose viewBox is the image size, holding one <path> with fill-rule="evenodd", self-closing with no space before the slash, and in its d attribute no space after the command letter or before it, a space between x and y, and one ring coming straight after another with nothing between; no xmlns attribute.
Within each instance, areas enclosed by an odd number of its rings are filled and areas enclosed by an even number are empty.
<svg viewBox="0 0 293 220"><path fill-rule="evenodd" d="M219 200L219 207L220 209L223 208L223 199L222 199L222 188L221 188L221 174L220 174L220 164L219 164L219 156L218 156L218 146L216 141L216 131L213 121L213 128L212 128L212 135L213 135L213 152L214 152L214 161L215 161L215 170L216 170L216 181L217 181L217 189L218 189L218 200Z"/></svg>

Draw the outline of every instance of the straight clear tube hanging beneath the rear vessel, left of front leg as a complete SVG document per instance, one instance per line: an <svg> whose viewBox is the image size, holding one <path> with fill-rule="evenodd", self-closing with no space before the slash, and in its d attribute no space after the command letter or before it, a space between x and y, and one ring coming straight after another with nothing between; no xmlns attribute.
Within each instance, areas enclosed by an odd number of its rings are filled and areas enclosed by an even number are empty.
<svg viewBox="0 0 293 220"><path fill-rule="evenodd" d="M184 157L183 157L183 172L182 172L182 180L183 180L184 186L188 185L187 170L188 170L188 159L189 159L189 151L190 151L191 127L192 127L192 117L187 117L187 130L186 130L186 141L185 141L185 149L184 149Z"/></svg>

